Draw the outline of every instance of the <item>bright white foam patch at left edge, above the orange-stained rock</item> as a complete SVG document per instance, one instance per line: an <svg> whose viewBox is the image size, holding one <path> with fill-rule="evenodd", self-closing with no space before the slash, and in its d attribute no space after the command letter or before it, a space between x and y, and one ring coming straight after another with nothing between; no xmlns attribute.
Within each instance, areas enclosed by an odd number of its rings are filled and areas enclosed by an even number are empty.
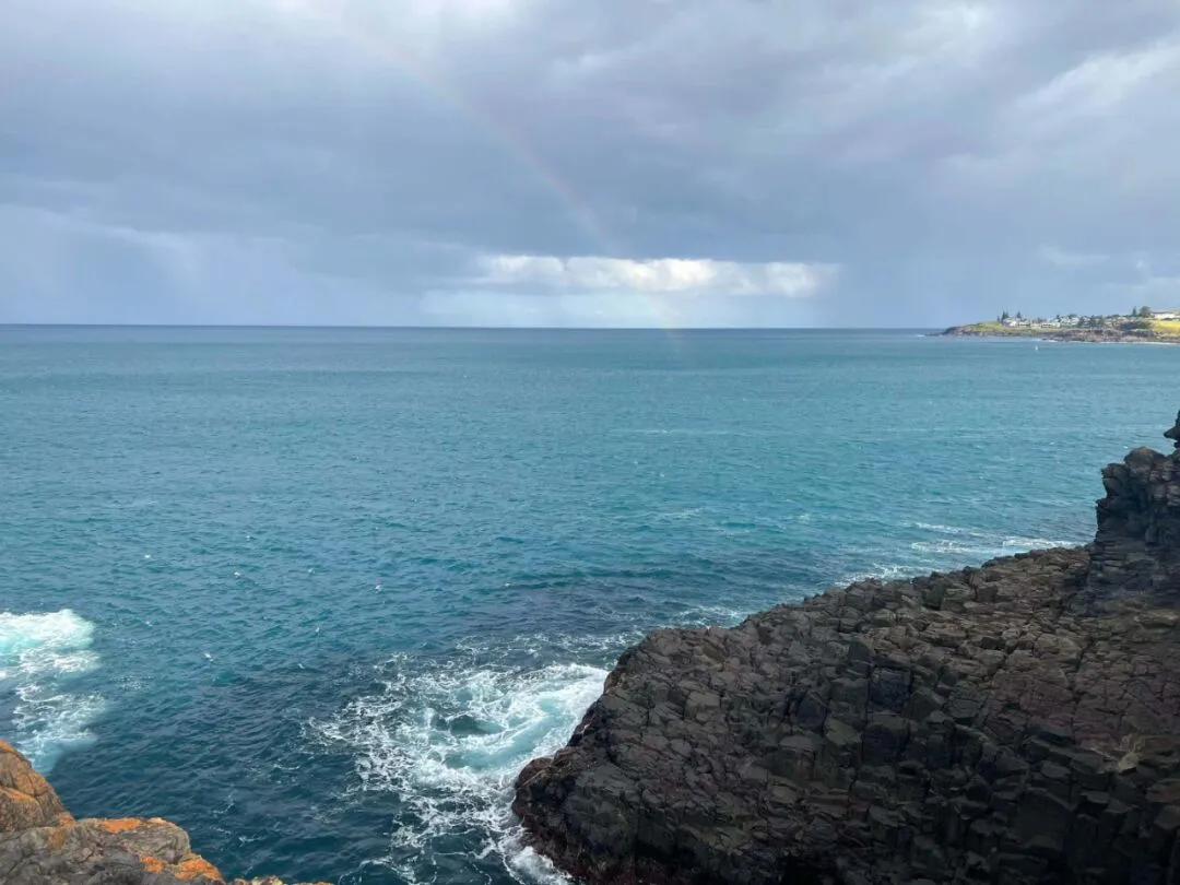
<svg viewBox="0 0 1180 885"><path fill-rule="evenodd" d="M70 609L35 615L0 611L0 693L12 694L13 743L40 772L66 749L93 740L99 695L67 691L78 674L98 667L94 625Z"/></svg>

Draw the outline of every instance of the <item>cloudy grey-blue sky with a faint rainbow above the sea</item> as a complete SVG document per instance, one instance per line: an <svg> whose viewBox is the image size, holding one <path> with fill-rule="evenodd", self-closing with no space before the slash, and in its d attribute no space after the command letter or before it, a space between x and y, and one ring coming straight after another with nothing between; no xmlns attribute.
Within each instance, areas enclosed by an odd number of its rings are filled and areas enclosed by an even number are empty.
<svg viewBox="0 0 1180 885"><path fill-rule="evenodd" d="M1178 0L5 0L0 322L1180 308Z"/></svg>

